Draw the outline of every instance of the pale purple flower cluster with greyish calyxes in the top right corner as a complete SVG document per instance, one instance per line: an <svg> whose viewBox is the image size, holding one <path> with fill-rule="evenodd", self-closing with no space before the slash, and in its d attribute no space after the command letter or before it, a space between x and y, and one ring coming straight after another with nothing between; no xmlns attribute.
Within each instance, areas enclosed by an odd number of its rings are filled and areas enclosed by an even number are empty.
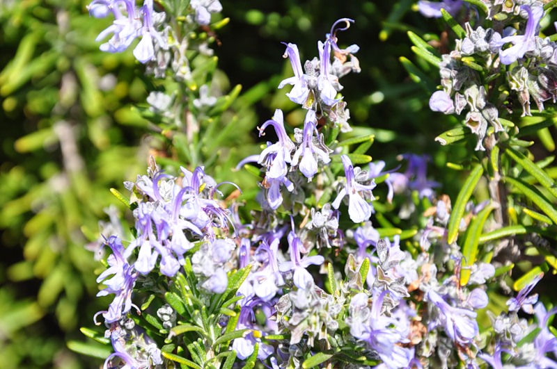
<svg viewBox="0 0 557 369"><path fill-rule="evenodd" d="M443 90L434 92L430 99L430 108L441 113L460 115L469 110L464 124L478 136L476 150L485 150L488 126L494 132L505 131L499 120L500 102L494 101L493 91L484 87L480 71L487 73L485 79L492 79L510 66L506 72L508 86L517 94L522 116L531 115L531 99L540 111L544 110L544 101L556 100L557 44L538 36L544 15L542 4L531 1L512 9L517 10L519 19L527 19L524 31L509 27L500 33L481 26L473 29L466 23L466 37L457 40L456 49L444 54L439 64Z"/></svg>

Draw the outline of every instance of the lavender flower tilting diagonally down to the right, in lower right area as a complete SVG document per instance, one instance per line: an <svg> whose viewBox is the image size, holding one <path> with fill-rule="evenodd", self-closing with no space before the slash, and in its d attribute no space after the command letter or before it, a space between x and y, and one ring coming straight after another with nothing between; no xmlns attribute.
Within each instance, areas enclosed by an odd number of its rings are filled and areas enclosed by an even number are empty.
<svg viewBox="0 0 557 369"><path fill-rule="evenodd" d="M430 328L441 325L447 336L459 345L469 345L478 334L476 313L468 309L450 306L434 290L426 293L427 300L437 306L439 317L430 323Z"/></svg>

